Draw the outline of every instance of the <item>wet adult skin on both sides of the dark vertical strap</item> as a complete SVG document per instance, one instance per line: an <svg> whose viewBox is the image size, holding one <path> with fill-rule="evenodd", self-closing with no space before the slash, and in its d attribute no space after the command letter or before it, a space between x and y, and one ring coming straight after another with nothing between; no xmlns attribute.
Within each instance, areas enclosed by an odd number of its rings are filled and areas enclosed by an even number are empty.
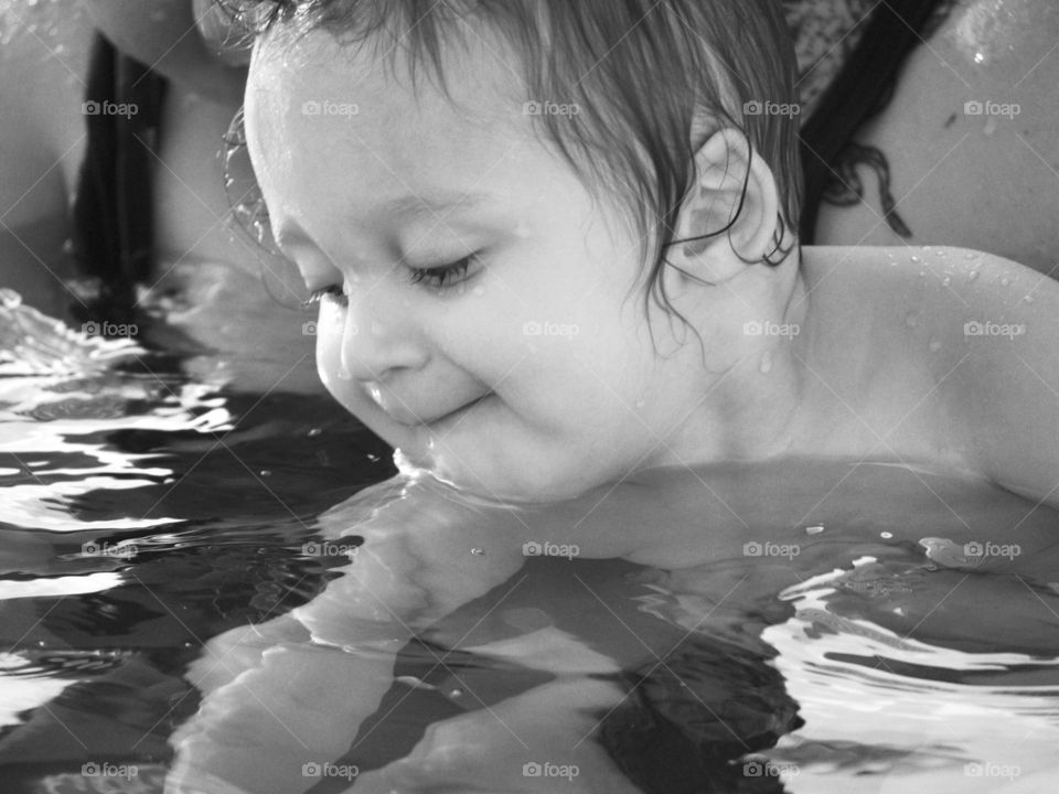
<svg viewBox="0 0 1059 794"><path fill-rule="evenodd" d="M147 286L175 296L169 322L218 353L196 358L193 374L254 390L318 391L313 337L302 333L312 315L281 300L280 279L263 281L260 251L229 219L222 139L245 81L245 68L232 64L248 53L217 46L223 35L210 8L190 0L0 6L3 286L56 316L74 302L63 285L74 273L62 246L73 230L68 206L85 151L82 103L98 30L169 81L153 172L156 271Z"/></svg>

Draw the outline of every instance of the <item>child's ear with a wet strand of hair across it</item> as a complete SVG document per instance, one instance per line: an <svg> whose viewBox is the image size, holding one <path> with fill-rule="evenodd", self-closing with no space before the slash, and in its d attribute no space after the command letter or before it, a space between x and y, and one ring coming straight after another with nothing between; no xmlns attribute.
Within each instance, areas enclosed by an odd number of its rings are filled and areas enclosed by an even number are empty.
<svg viewBox="0 0 1059 794"><path fill-rule="evenodd" d="M668 260L709 283L738 275L777 244L779 190L747 137L725 128L695 153L696 181L684 201ZM706 236L708 235L708 236Z"/></svg>

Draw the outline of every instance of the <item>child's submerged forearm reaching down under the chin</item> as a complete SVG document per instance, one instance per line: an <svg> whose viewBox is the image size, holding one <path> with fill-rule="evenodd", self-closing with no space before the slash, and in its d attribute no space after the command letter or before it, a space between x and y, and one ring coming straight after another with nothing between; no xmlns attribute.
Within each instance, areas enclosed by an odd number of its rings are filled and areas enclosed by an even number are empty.
<svg viewBox="0 0 1059 794"><path fill-rule="evenodd" d="M253 633L238 630L234 642L211 642L211 657L193 670L204 682L202 707L172 739L168 792L211 791L216 779L255 794L311 787L317 781L303 775L304 764L349 749L413 633L522 566L521 546L498 543L501 516L416 484L403 495L394 487L362 493L321 518L332 537L364 537L343 577L290 615ZM379 491L384 503L364 522ZM226 669L233 659L235 669Z"/></svg>

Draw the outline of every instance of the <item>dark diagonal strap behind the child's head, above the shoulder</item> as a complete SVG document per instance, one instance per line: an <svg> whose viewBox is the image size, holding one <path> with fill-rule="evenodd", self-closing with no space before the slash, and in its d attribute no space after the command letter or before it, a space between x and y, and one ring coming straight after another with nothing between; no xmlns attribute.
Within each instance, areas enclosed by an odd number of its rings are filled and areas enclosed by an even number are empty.
<svg viewBox="0 0 1059 794"><path fill-rule="evenodd" d="M935 10L948 0L887 0L873 11L864 35L801 130L805 195L799 237L812 245L824 189L843 149L885 105L897 73L926 37Z"/></svg>

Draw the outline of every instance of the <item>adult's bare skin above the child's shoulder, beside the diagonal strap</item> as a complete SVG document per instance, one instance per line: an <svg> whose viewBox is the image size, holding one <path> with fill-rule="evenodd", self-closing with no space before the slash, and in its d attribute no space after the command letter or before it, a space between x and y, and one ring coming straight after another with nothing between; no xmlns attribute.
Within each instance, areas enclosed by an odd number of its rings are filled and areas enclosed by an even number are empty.
<svg viewBox="0 0 1059 794"><path fill-rule="evenodd" d="M1057 41L1059 7L1049 0L958 2L911 53L885 110L854 137L871 154L851 161L863 201L825 202L816 242L955 245L1059 278ZM882 219L882 176L909 238Z"/></svg>

